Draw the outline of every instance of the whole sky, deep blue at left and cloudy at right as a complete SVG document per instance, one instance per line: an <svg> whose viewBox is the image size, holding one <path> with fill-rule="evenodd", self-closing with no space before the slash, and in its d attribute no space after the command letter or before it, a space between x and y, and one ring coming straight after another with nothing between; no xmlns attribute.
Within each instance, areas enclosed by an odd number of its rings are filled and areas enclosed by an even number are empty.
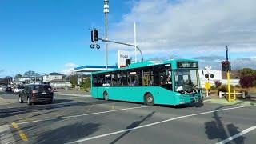
<svg viewBox="0 0 256 144"><path fill-rule="evenodd" d="M254 0L110 0L109 39L134 43L136 22L145 59L194 58L218 70L227 45L233 68L256 69L254 6ZM103 0L0 0L0 78L105 65L104 43L90 49L93 28L104 36ZM117 50L133 50L109 49L110 66Z"/></svg>

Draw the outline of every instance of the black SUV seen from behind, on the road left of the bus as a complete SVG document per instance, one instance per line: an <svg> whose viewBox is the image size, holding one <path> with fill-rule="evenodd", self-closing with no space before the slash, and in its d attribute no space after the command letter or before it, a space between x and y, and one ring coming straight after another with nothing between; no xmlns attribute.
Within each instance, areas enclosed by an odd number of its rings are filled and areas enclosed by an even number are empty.
<svg viewBox="0 0 256 144"><path fill-rule="evenodd" d="M18 102L24 100L28 105L34 102L52 103L54 99L54 90L49 85L30 84L24 87L24 90L18 96Z"/></svg>

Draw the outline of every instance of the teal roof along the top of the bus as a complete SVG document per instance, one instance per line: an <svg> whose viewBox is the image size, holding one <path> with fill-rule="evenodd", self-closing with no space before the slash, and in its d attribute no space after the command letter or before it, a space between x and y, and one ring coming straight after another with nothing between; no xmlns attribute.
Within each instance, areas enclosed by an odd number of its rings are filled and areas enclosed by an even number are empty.
<svg viewBox="0 0 256 144"><path fill-rule="evenodd" d="M174 66L174 64L176 62L198 62L198 61L193 60L193 59L170 59L167 61L137 62L137 63L132 63L132 64L130 64L130 66L127 66L127 67L122 67L122 68L115 69L115 70L102 70L102 71L93 72L92 74L100 74L100 73L112 72L112 71L118 71L118 70L129 70L129 69L134 69L134 68L139 68L139 67L155 66L155 65L167 64L167 63L171 63L172 66Z"/></svg>

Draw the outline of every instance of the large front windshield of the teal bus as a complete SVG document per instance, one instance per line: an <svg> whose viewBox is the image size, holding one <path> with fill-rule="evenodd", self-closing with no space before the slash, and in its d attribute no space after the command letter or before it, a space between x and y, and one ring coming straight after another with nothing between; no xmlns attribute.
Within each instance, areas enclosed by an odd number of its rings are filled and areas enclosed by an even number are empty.
<svg viewBox="0 0 256 144"><path fill-rule="evenodd" d="M199 88L198 70L175 70L175 90L178 92L190 92Z"/></svg>

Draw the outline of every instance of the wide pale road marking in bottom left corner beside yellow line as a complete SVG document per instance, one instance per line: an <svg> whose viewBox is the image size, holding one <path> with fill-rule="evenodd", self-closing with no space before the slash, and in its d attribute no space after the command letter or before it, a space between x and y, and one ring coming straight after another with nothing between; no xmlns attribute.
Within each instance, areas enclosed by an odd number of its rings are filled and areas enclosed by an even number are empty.
<svg viewBox="0 0 256 144"><path fill-rule="evenodd" d="M7 125L0 126L0 143L16 143L14 140L14 135L11 133L10 127Z"/></svg>

